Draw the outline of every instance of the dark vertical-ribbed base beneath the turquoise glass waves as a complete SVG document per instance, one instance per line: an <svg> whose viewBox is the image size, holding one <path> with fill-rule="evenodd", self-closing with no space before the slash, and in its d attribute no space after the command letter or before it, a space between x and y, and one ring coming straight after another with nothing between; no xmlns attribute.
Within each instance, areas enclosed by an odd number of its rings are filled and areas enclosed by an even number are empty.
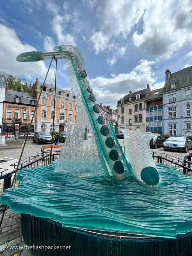
<svg viewBox="0 0 192 256"><path fill-rule="evenodd" d="M64 228L47 219L21 214L25 243L33 256L192 256L192 233L176 239L116 235Z"/></svg>

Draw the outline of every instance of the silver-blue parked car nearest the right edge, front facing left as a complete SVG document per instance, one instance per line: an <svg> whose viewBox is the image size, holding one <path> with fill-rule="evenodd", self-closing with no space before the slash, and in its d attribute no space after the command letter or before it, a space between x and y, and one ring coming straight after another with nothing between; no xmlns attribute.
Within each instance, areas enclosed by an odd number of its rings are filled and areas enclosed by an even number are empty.
<svg viewBox="0 0 192 256"><path fill-rule="evenodd" d="M163 143L164 150L178 150L187 153L192 148L192 140L185 136L171 136Z"/></svg>

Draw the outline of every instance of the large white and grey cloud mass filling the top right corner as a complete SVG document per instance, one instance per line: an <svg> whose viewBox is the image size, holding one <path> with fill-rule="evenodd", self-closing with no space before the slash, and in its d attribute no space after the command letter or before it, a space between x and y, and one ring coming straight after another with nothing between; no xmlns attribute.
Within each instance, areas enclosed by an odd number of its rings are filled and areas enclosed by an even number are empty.
<svg viewBox="0 0 192 256"><path fill-rule="evenodd" d="M97 17L99 32L94 32L95 41L91 39L97 54L107 50L112 39L118 46L117 37L127 38L135 28L133 43L155 58L169 58L192 41L191 0L105 0L97 9ZM101 34L105 40L98 46Z"/></svg>

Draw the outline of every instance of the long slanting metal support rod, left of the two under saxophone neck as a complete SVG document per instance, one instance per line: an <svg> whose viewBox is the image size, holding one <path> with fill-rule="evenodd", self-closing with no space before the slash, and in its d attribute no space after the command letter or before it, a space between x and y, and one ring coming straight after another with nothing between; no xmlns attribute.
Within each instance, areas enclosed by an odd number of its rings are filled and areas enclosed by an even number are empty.
<svg viewBox="0 0 192 256"><path fill-rule="evenodd" d="M25 149L25 145L26 145L26 142L27 142L27 139L28 139L28 134L29 134L29 131L30 131L30 127L31 127L31 124L32 124L32 122L33 122L33 120L34 120L34 117L35 117L35 114L36 114L36 110L37 110L37 107L38 107L38 103L39 103L39 100L40 100L40 98L41 98L41 93L42 93L42 91L43 91L43 86L44 86L45 81L46 81L46 79L47 79L47 76L48 76L48 73L49 73L49 69L50 69L50 67L51 67L52 60L53 60L53 59L54 59L54 56L52 56L51 62L50 62L50 64L49 64L49 68L48 68L48 70L47 70L47 74L46 74L46 76L45 76L44 83L43 83L43 85L42 85L41 92L40 92L40 94L39 94L39 97L38 97L38 100L37 100L37 103L36 103L36 108L35 108L35 110L34 110L33 117L32 117L32 119L31 119L30 125L28 126L27 136L26 136L26 138L25 138L25 141L24 141L24 144L23 144L23 148L22 148L22 151L21 151L21 154L20 154L20 158L19 158L19 161L18 161L16 170L15 170L15 174L14 174L14 177L13 177L13 180L12 180L11 188L12 188L12 186L13 186L13 183L14 183L15 178L16 178L16 174L17 174L18 169L19 169L21 157L22 157L22 155L23 155L23 151L24 151L24 149ZM3 218L4 218L5 211L6 211L6 205L5 205L5 207L4 207L4 211L3 211L3 214L2 214L2 217L1 217L0 228L1 228L1 224L2 224L2 222L3 222Z"/></svg>

